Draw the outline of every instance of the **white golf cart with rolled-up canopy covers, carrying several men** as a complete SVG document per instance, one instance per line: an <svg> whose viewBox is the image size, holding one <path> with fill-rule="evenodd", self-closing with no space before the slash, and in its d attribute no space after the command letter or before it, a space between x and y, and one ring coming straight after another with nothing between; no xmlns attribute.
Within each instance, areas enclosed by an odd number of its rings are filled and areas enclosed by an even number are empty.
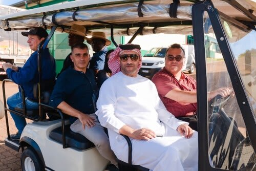
<svg viewBox="0 0 256 171"><path fill-rule="evenodd" d="M92 31L105 32L116 46L115 36L119 35L133 35L129 41L132 42L139 34L193 34L199 130L199 163L195 164L199 165L200 171L255 170L255 8L256 3L249 0L73 1L1 16L0 28L7 31L33 27L51 29L42 48L47 46L55 30L63 32L73 24L86 27L87 35L91 35ZM208 41L206 36L216 41ZM215 48L220 51L214 51ZM41 46L38 52L40 49ZM213 52L222 57L209 58ZM34 120L27 124L18 142L12 141L8 128L7 111L10 110L6 106L6 81L3 82L8 131L5 143L17 151L22 149L23 170L98 171L105 168L109 161L99 155L94 144L72 133L65 115L43 102L45 92L40 89L43 84L40 79L36 94L39 109L27 111L24 106L23 109L12 111ZM208 101L207 92L221 87L232 87L234 96L216 97ZM45 119L45 114L61 118ZM215 122L216 114L222 119ZM215 134L219 126L210 127L209 120L216 125L224 125L220 127L222 138ZM224 124L219 123L220 120ZM124 138L129 144L129 137ZM127 148L130 149L127 154L129 161L119 161L119 169L148 170L133 165L132 144Z"/></svg>

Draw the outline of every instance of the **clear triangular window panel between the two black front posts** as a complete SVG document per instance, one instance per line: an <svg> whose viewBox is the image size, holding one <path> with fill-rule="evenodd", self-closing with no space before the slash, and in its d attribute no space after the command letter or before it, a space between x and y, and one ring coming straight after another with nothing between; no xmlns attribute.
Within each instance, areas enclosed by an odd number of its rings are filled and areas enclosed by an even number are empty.
<svg viewBox="0 0 256 171"><path fill-rule="evenodd" d="M205 14L205 16L204 27L210 28L211 23L208 15ZM234 47L234 45L232 46ZM245 52L248 48L243 48L244 51L242 51L243 46L239 46L241 47L241 51L239 53L240 57L237 57L237 62L244 81L247 81L247 77L252 79L251 75L246 75L246 68L248 66L246 65L247 58L245 57ZM205 30L205 51L207 91L210 92L224 87L232 88L230 77L215 35L208 33L207 30ZM234 52L236 53L236 51ZM252 59L251 57L249 58ZM255 70L255 67L253 68L251 66L252 62L249 63L250 69ZM250 89L250 92L252 92L253 86L249 88L248 82L245 82L245 84L248 87L247 91L249 92ZM251 95L250 98L254 97ZM208 102L208 136L208 155L212 167L225 170L253 170L256 157L255 153L253 153L250 139L246 134L246 126L236 96L230 96L220 100L214 98Z"/></svg>

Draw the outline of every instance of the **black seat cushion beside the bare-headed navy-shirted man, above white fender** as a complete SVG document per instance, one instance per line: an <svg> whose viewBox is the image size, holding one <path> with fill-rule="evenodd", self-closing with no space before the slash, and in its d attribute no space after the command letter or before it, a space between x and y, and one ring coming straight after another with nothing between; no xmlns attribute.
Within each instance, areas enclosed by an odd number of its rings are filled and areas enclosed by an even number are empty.
<svg viewBox="0 0 256 171"><path fill-rule="evenodd" d="M71 131L70 124L65 125L65 134L66 134L66 145L68 147L73 147L81 150L95 147L95 145L91 141L89 141L86 137ZM62 143L61 126L52 130L49 137L57 142Z"/></svg>

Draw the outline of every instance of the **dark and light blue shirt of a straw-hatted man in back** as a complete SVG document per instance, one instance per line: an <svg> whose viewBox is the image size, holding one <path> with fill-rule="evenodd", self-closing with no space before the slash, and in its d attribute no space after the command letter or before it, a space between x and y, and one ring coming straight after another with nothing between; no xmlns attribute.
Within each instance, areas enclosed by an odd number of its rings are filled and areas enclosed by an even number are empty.
<svg viewBox="0 0 256 171"><path fill-rule="evenodd" d="M105 47L102 51L94 53L89 68L93 70L103 70L106 52L108 52L108 48Z"/></svg>

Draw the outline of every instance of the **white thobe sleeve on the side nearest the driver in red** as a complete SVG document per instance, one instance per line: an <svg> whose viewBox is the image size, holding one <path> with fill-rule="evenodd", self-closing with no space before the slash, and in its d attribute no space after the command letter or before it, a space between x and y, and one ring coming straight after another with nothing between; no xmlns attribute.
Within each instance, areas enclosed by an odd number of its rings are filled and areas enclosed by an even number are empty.
<svg viewBox="0 0 256 171"><path fill-rule="evenodd" d="M188 122L181 121L181 120L177 119L172 113L167 111L163 102L161 101L161 99L158 96L157 89L156 89L155 85L154 85L153 89L155 89L152 92L154 92L154 94L155 94L155 99L156 99L155 109L158 113L159 120L161 122L165 123L166 125L172 127L172 129L174 129L174 130L177 130L177 127L181 124L188 124Z"/></svg>

